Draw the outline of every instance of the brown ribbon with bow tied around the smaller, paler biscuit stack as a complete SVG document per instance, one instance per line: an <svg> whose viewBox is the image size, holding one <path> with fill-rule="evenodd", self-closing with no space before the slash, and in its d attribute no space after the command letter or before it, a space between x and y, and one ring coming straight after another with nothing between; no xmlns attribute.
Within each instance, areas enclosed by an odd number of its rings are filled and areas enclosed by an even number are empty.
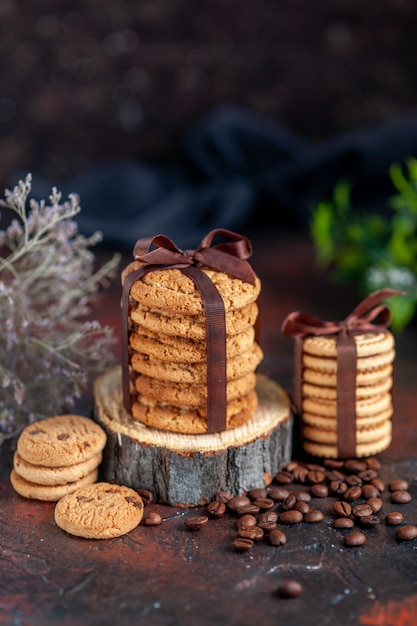
<svg viewBox="0 0 417 626"><path fill-rule="evenodd" d="M405 295L403 291L381 289L367 296L341 322L318 320L306 313L290 313L282 324L282 332L293 337L294 355L294 403L302 410L302 356L303 339L314 335L334 335L337 342L337 432L340 458L356 456L356 342L355 335L387 332L391 313L382 300L391 296Z"/></svg>

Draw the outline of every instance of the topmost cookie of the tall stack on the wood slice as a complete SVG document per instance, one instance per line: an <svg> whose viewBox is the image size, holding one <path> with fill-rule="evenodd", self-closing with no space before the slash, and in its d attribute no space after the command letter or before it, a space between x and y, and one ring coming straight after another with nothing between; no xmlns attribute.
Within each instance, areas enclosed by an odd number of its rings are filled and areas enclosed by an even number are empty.
<svg viewBox="0 0 417 626"><path fill-rule="evenodd" d="M130 263L122 272L122 283L128 273L142 265L138 261ZM255 302L260 294L261 282L258 277L252 285L208 267L202 266L200 269L218 290L226 312ZM204 314L204 304L197 286L179 269L149 272L141 280L133 283L130 295L148 308L167 310L175 315Z"/></svg>

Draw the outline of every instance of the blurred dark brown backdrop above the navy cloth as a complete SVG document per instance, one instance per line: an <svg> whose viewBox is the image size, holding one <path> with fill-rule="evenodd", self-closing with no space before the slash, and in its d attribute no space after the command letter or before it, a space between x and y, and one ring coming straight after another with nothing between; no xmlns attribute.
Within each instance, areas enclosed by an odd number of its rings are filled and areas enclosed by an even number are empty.
<svg viewBox="0 0 417 626"><path fill-rule="evenodd" d="M413 0L2 0L0 187L165 167L222 105L314 146L414 116L416 27Z"/></svg>

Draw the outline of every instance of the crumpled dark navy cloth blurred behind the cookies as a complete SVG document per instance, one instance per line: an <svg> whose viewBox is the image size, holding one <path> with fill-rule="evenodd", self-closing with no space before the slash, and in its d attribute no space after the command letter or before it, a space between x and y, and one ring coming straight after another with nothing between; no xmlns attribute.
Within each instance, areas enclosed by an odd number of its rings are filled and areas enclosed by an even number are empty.
<svg viewBox="0 0 417 626"><path fill-rule="evenodd" d="M363 210L384 210L394 189L389 166L417 155L417 115L313 145L289 129L238 107L222 107L191 126L181 157L169 165L117 161L58 185L33 172L32 195L57 186L80 196L79 229L133 248L163 233L195 247L212 228L243 234L253 226L307 228L314 203L341 178Z"/></svg>

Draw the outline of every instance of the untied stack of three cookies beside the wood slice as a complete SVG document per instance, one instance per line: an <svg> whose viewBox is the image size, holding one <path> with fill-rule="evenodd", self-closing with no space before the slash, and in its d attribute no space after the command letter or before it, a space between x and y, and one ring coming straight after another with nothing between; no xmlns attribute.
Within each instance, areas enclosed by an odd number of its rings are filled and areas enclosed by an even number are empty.
<svg viewBox="0 0 417 626"><path fill-rule="evenodd" d="M26 426L13 457L10 482L25 498L56 502L95 483L104 430L80 415L59 415Z"/></svg>

